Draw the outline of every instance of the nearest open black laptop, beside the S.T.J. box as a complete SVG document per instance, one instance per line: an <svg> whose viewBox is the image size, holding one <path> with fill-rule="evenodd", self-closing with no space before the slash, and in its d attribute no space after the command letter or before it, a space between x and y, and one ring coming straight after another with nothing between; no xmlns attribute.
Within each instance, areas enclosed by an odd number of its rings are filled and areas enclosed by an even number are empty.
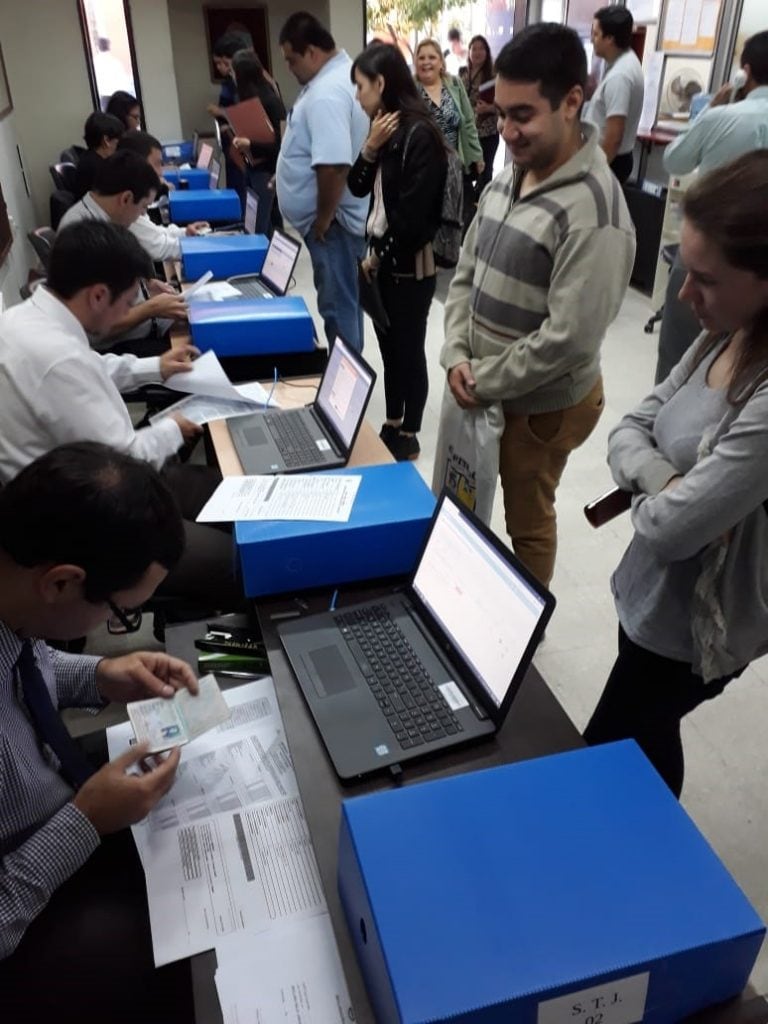
<svg viewBox="0 0 768 1024"><path fill-rule="evenodd" d="M404 592L279 633L334 768L352 780L500 729L554 606L443 492Z"/></svg>

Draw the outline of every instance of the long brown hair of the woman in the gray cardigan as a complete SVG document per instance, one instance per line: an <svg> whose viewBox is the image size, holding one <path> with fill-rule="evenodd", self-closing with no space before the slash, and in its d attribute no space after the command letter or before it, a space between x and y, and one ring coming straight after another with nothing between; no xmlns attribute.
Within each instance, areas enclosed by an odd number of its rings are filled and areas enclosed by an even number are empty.
<svg viewBox="0 0 768 1024"><path fill-rule="evenodd" d="M696 181L683 199L683 216L714 243L731 266L768 280L768 150L738 157ZM698 365L722 339L710 335ZM768 306L744 332L728 401L740 404L768 379Z"/></svg>

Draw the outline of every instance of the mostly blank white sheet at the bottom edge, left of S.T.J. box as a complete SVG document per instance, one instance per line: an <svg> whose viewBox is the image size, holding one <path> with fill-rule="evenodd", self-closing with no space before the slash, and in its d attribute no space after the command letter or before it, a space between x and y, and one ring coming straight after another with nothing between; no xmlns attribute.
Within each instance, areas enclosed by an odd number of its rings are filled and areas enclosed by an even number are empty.
<svg viewBox="0 0 768 1024"><path fill-rule="evenodd" d="M224 1024L348 1024L354 1019L327 913L216 943Z"/></svg>

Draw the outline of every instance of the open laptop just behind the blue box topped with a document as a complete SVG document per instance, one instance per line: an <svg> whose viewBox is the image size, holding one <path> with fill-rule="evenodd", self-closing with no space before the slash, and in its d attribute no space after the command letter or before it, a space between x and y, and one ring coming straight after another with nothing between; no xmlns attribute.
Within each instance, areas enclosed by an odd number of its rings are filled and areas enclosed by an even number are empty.
<svg viewBox="0 0 768 1024"><path fill-rule="evenodd" d="M375 383L375 371L337 338L311 406L226 421L243 472L301 473L345 466Z"/></svg>

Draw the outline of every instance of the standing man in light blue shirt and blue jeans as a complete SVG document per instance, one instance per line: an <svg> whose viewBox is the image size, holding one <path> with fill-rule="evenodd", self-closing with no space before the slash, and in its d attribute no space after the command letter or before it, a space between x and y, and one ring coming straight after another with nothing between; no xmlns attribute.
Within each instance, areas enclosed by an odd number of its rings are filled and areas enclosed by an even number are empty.
<svg viewBox="0 0 768 1024"><path fill-rule="evenodd" d="M309 250L329 344L341 336L361 351L357 260L365 254L368 199L355 199L346 180L369 120L354 96L351 60L312 14L292 14L280 44L303 89L278 160L278 200Z"/></svg>

